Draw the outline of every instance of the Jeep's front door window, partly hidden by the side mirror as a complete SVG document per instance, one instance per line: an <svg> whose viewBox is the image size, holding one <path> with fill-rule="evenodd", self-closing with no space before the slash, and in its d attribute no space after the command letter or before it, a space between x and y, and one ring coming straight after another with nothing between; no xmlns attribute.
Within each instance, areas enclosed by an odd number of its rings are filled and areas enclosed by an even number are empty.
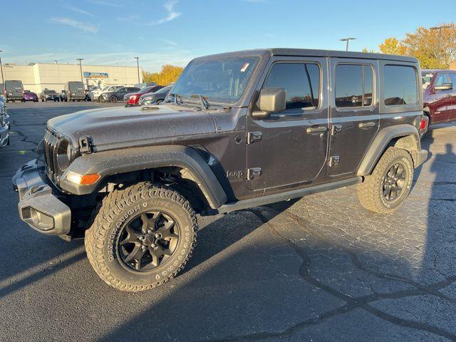
<svg viewBox="0 0 456 342"><path fill-rule="evenodd" d="M314 63L275 63L263 88L286 90L286 110L310 109L320 102L320 68Z"/></svg>

